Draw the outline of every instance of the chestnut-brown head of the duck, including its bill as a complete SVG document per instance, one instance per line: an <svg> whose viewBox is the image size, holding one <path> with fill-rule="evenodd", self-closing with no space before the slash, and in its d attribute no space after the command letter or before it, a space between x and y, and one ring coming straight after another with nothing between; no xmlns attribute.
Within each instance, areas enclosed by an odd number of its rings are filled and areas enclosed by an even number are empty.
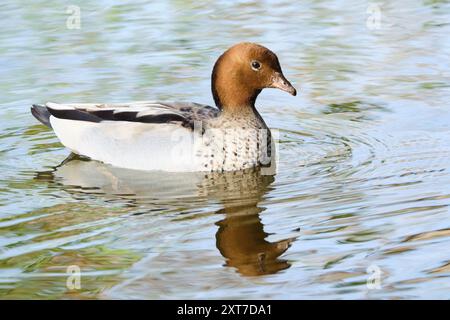
<svg viewBox="0 0 450 320"><path fill-rule="evenodd" d="M264 88L278 88L293 96L297 94L284 77L275 53L261 45L238 43L225 51L214 65L211 89L220 109L253 107Z"/></svg>

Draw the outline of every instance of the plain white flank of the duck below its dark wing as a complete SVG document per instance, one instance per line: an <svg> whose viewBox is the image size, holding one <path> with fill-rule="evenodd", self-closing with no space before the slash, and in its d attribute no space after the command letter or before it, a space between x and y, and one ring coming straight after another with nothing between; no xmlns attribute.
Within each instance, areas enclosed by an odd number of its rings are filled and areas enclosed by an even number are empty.
<svg viewBox="0 0 450 320"><path fill-rule="evenodd" d="M117 167L171 172L204 170L194 152L195 133L180 125L95 123L53 116L50 123L61 143L73 152Z"/></svg>

